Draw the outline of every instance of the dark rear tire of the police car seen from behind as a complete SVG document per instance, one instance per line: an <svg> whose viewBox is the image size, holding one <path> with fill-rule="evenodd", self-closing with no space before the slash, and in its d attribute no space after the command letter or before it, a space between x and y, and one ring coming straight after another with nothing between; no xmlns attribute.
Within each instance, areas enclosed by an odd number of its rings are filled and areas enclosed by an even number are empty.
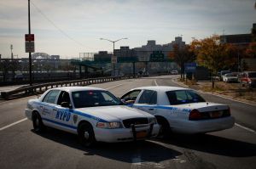
<svg viewBox="0 0 256 169"><path fill-rule="evenodd" d="M160 124L160 132L158 134L159 138L170 138L171 128L169 122L164 118L157 116L157 122Z"/></svg>

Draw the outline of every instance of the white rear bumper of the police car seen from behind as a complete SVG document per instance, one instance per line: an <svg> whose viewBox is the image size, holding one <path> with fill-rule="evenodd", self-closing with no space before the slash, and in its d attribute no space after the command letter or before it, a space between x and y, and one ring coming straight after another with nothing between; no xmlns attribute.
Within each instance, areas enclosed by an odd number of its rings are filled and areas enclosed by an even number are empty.
<svg viewBox="0 0 256 169"><path fill-rule="evenodd" d="M181 133L206 133L216 132L234 127L235 118L232 116L219 119L202 120L202 121L186 121L181 127L173 127L173 132Z"/></svg>

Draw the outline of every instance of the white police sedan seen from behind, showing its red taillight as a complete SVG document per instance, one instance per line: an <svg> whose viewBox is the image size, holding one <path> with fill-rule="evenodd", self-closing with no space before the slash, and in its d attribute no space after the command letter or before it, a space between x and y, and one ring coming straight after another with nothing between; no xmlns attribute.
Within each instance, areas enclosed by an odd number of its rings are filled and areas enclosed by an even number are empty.
<svg viewBox="0 0 256 169"><path fill-rule="evenodd" d="M125 93L121 100L154 115L166 137L171 131L206 133L235 124L228 105L207 102L195 91L183 87L138 87Z"/></svg>

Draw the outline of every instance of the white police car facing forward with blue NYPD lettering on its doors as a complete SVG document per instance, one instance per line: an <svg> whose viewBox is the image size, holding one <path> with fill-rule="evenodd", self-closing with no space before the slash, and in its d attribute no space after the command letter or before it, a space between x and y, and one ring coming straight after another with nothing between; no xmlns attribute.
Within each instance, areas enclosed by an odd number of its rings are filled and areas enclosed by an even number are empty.
<svg viewBox="0 0 256 169"><path fill-rule="evenodd" d="M73 132L85 146L158 135L160 126L154 115L122 104L102 88L57 87L29 100L25 112L36 132L45 127Z"/></svg>

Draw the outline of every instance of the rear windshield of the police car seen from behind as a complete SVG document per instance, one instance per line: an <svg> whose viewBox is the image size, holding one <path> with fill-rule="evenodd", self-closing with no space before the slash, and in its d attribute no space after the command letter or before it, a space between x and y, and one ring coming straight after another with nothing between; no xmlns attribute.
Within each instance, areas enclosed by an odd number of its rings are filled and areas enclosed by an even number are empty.
<svg viewBox="0 0 256 169"><path fill-rule="evenodd" d="M166 95L171 105L205 102L199 94L192 90L168 91Z"/></svg>

